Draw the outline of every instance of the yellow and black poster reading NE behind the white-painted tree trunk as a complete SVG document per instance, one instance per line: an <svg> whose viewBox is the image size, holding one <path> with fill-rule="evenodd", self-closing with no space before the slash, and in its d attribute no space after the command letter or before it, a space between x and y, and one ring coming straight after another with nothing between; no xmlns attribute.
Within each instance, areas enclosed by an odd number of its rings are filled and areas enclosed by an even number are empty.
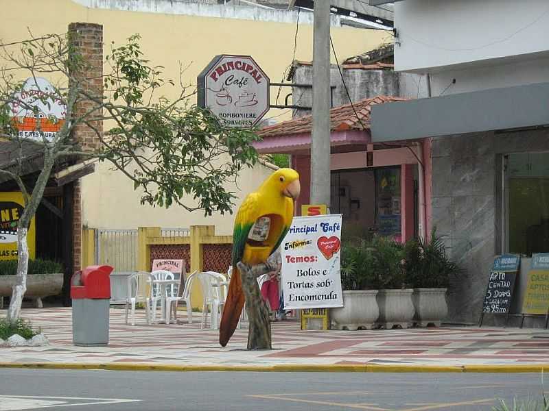
<svg viewBox="0 0 549 411"><path fill-rule="evenodd" d="M17 222L23 214L21 192L0 192L0 261L17 260ZM36 254L34 217L27 232L29 256Z"/></svg>

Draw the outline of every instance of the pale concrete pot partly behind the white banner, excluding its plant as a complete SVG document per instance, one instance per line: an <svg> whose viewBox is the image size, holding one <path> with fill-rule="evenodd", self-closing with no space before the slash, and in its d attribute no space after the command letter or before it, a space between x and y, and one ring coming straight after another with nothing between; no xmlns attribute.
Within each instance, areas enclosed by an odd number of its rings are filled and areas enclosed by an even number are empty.
<svg viewBox="0 0 549 411"><path fill-rule="evenodd" d="M330 319L336 329L355 331L359 327L372 329L379 308L377 290L343 291L343 307L330 308Z"/></svg>

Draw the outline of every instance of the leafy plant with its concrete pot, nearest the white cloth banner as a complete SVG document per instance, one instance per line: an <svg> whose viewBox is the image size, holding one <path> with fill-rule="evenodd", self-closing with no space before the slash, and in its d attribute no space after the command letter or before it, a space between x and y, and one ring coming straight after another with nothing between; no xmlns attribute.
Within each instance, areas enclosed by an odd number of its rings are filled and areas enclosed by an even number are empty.
<svg viewBox="0 0 549 411"><path fill-rule="evenodd" d="M343 307L330 309L332 325L337 329L371 329L379 315L374 250L368 241L358 239L344 242L341 252Z"/></svg>

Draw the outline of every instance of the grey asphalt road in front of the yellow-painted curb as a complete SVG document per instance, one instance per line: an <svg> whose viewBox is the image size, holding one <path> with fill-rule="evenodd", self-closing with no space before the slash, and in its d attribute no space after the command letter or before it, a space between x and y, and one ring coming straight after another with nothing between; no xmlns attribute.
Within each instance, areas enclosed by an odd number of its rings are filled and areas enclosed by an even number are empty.
<svg viewBox="0 0 549 411"><path fill-rule="evenodd" d="M541 393L538 374L0 371L0 411L491 410Z"/></svg>

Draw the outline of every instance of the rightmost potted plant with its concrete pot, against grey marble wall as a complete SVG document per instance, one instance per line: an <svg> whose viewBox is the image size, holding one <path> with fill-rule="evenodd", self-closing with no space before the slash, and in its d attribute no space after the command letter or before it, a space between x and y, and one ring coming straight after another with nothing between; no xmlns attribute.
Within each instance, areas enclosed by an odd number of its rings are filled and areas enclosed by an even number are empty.
<svg viewBox="0 0 549 411"><path fill-rule="evenodd" d="M404 246L404 269L414 287L414 322L440 326L448 314L446 290L450 276L462 270L446 254L444 242L432 229L430 240L410 240Z"/></svg>

